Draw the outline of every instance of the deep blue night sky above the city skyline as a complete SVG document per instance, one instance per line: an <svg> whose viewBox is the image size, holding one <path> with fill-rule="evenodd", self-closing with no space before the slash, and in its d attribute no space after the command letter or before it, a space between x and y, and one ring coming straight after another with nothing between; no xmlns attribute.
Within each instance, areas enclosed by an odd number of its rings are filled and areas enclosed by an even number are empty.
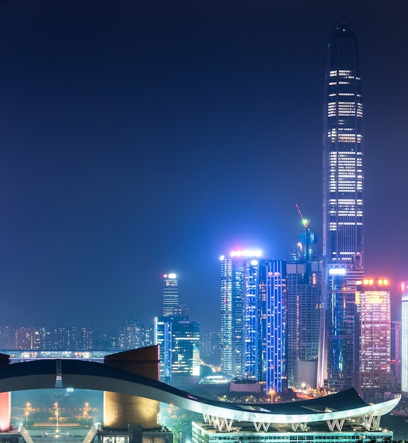
<svg viewBox="0 0 408 443"><path fill-rule="evenodd" d="M408 280L408 2L0 1L0 323L202 330L233 248L322 239L327 42L358 36L365 270ZM320 247L321 247L320 243Z"/></svg>

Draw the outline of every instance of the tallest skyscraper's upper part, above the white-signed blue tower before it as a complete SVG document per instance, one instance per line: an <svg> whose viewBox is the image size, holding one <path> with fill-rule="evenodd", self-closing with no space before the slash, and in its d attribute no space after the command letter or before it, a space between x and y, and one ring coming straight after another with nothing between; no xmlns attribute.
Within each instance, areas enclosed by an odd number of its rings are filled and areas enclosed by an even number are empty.
<svg viewBox="0 0 408 443"><path fill-rule="evenodd" d="M363 102L357 39L341 17L328 46L324 93L323 248L329 264L363 252Z"/></svg>

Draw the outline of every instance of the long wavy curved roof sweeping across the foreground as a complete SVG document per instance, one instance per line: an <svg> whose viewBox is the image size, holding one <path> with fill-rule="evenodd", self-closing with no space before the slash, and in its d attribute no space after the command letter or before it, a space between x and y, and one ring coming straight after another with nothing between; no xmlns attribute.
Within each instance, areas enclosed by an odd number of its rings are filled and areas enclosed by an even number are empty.
<svg viewBox="0 0 408 443"><path fill-rule="evenodd" d="M74 359L44 359L10 364L0 369L0 392L54 389L61 386L126 393L225 420L270 424L379 416L389 413L399 402L399 398L395 398L368 405L354 389L348 389L331 396L293 403L225 403L193 396L160 381L115 369L106 364Z"/></svg>

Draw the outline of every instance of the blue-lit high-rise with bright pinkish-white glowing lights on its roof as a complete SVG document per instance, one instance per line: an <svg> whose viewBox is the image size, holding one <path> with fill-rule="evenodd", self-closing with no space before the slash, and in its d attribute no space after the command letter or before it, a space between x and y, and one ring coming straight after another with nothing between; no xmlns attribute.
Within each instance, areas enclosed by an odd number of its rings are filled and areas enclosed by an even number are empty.
<svg viewBox="0 0 408 443"><path fill-rule="evenodd" d="M232 251L221 261L221 371L254 377L256 275L261 251ZM247 293L246 293L247 292ZM246 329L248 328L248 333ZM249 340L246 343L246 340Z"/></svg>

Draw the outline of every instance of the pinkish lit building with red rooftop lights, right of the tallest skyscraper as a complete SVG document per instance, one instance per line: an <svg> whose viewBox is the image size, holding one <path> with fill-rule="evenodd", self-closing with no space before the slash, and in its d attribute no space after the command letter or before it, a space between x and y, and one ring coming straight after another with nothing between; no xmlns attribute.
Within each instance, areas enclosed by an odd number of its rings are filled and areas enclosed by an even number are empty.
<svg viewBox="0 0 408 443"><path fill-rule="evenodd" d="M392 389L390 287L386 279L357 282L358 389Z"/></svg>

